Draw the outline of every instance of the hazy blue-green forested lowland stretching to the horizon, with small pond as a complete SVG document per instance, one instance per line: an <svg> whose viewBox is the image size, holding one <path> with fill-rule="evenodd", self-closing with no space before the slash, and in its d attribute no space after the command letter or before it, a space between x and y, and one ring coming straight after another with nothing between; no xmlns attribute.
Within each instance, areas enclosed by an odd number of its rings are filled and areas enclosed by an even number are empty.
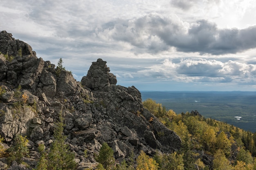
<svg viewBox="0 0 256 170"><path fill-rule="evenodd" d="M153 99L177 114L198 110L204 117L256 132L256 92L141 91L141 95L143 101Z"/></svg>

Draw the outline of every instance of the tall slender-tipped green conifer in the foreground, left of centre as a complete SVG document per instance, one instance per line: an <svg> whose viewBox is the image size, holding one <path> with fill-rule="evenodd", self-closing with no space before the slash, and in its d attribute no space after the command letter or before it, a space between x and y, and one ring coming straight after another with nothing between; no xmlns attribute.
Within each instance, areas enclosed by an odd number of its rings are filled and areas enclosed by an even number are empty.
<svg viewBox="0 0 256 170"><path fill-rule="evenodd" d="M47 155L49 170L75 170L77 166L74 153L69 150L68 144L65 144L67 137L63 135L63 127L62 113L60 113L60 121L56 123L53 135L55 140Z"/></svg>

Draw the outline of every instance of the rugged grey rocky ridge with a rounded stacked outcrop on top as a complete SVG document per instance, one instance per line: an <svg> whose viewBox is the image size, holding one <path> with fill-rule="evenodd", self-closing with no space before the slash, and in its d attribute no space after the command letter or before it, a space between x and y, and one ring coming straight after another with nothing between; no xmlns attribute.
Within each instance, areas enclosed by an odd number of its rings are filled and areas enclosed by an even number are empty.
<svg viewBox="0 0 256 170"><path fill-rule="evenodd" d="M166 128L143 108L141 93L134 87L117 84L106 61L92 62L87 76L77 82L72 73L56 73L54 64L36 56L31 46L0 32L0 135L8 148L13 138L21 134L29 139L30 157L23 158L29 168L13 162L9 170L32 169L38 161L38 144L49 148L58 114L65 120L64 133L70 149L75 152L78 169L91 168L97 163L94 153L107 142L115 159L122 161L133 151L148 155L173 152L181 146L180 137ZM12 56L10 58L6 56ZM19 110L16 89L28 96L27 106ZM161 134L161 135L158 135ZM84 157L84 151L88 157ZM0 158L0 168L7 167Z"/></svg>

